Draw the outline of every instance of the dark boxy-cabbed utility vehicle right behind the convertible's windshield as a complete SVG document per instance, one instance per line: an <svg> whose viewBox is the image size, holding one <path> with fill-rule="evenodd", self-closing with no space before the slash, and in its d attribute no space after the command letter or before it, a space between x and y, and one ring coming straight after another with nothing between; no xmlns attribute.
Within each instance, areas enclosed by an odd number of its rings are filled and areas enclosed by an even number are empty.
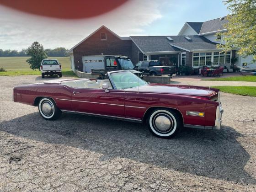
<svg viewBox="0 0 256 192"><path fill-rule="evenodd" d="M126 56L104 56L103 69L91 69L91 75L99 75L99 79L105 79L109 71L128 70L139 76L143 77L143 73L134 70L133 63L129 57Z"/></svg>

